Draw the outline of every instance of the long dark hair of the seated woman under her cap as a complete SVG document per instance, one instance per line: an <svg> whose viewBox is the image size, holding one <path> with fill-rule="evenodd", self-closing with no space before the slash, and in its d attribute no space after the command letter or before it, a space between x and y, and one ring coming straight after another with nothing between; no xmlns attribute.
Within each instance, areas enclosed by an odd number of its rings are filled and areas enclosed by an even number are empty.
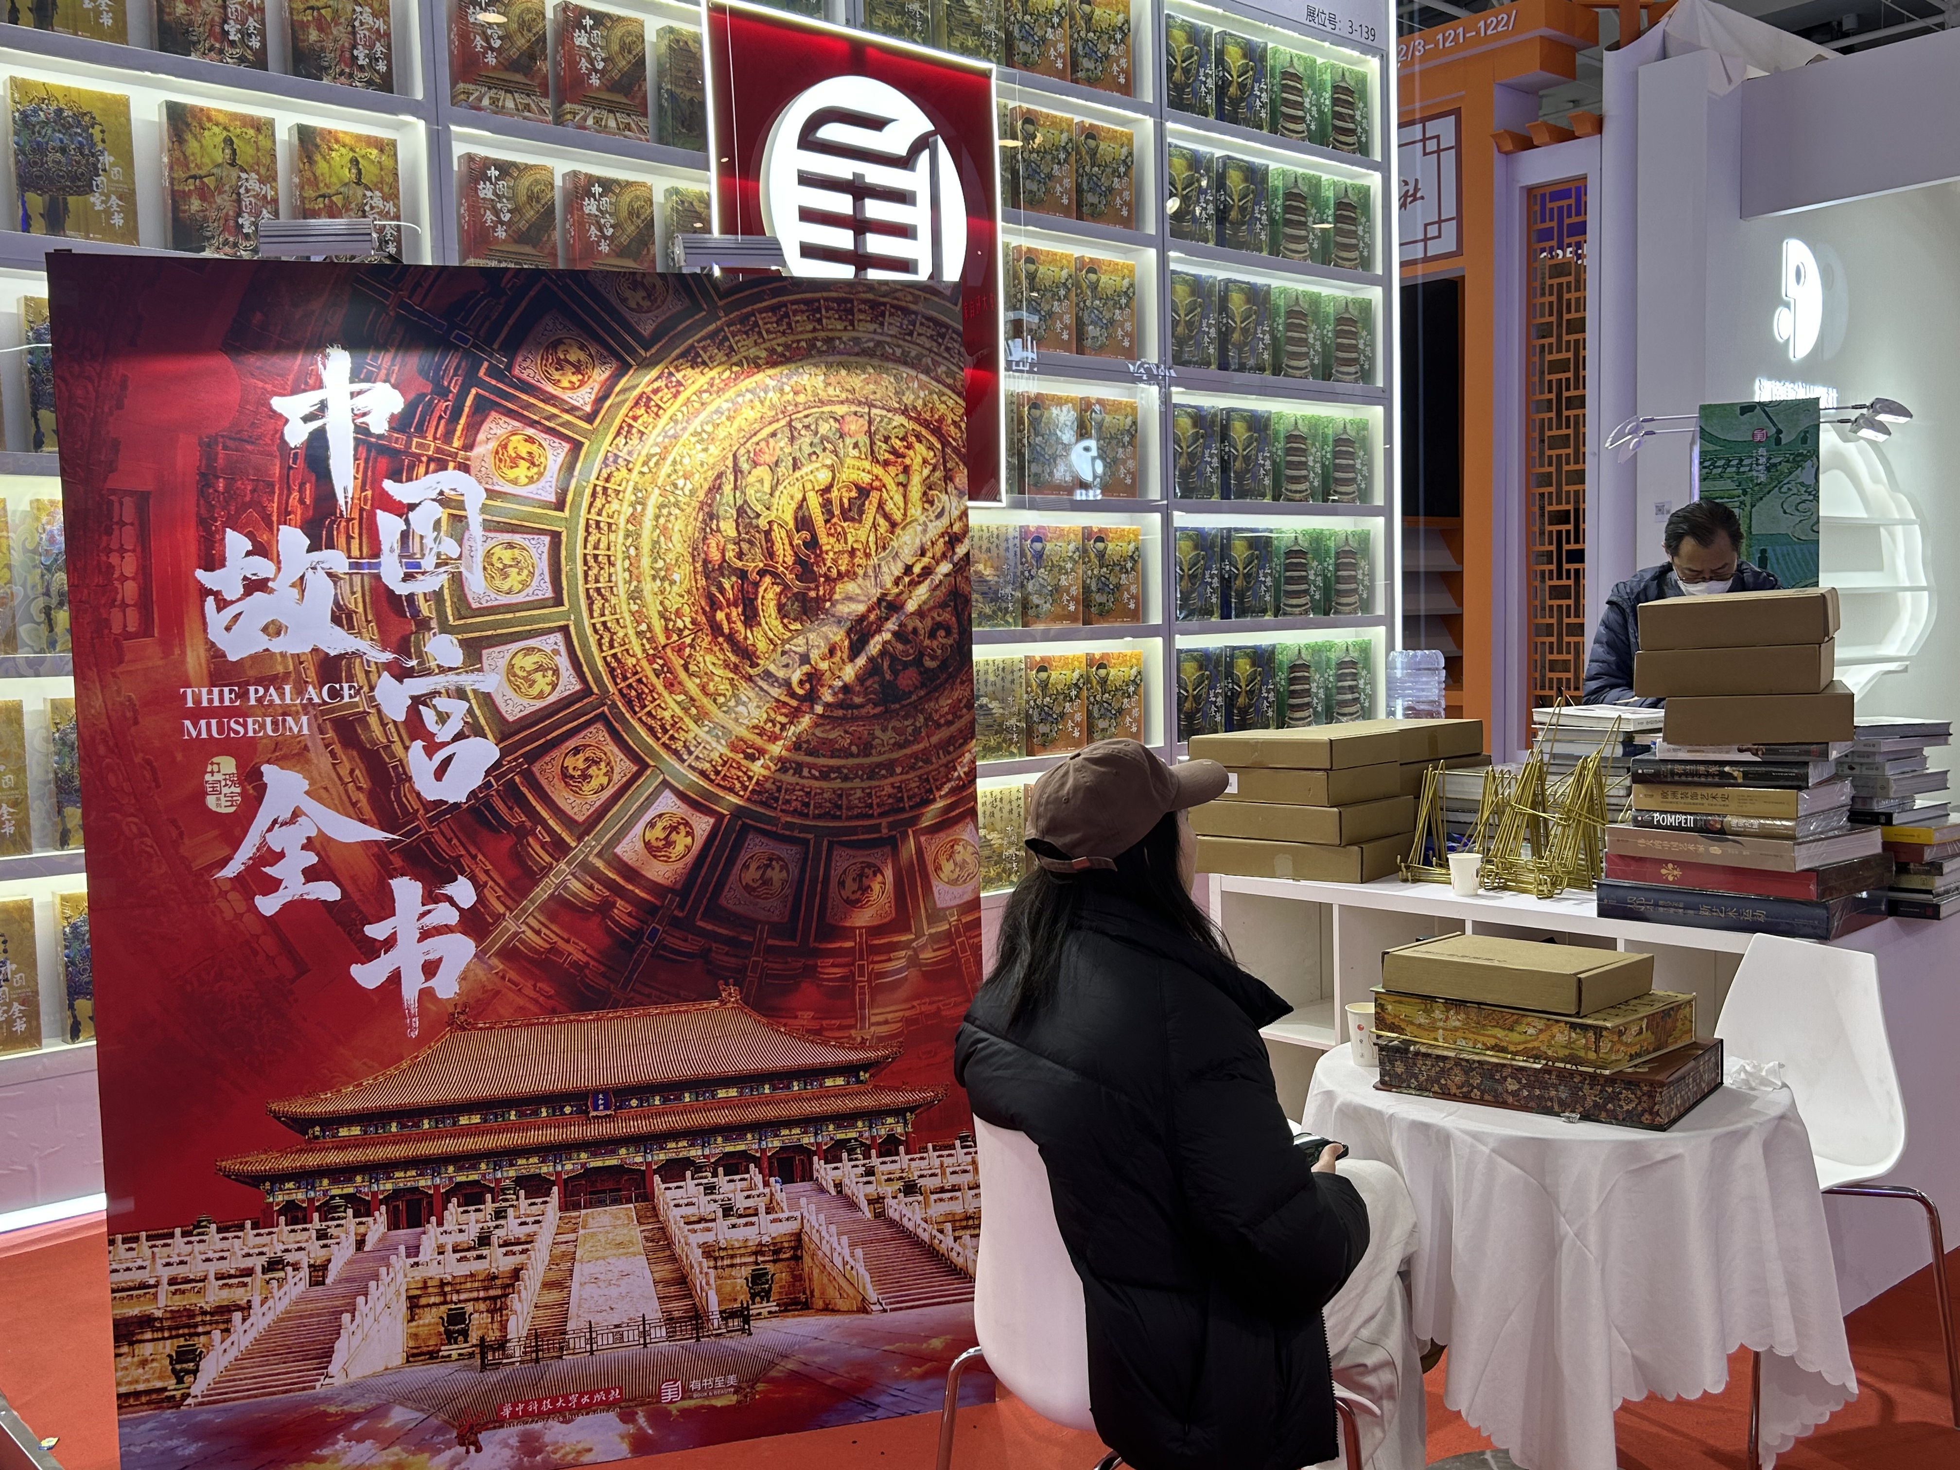
<svg viewBox="0 0 1960 1470"><path fill-rule="evenodd" d="M986 978L990 986L1009 988L1009 1025L1054 996L1068 935L1082 902L1096 892L1127 898L1200 949L1231 960L1225 937L1178 876L1178 813L1166 811L1141 843L1117 857L1113 872L1049 872L1035 866L1015 884L1000 915L1000 951Z"/></svg>

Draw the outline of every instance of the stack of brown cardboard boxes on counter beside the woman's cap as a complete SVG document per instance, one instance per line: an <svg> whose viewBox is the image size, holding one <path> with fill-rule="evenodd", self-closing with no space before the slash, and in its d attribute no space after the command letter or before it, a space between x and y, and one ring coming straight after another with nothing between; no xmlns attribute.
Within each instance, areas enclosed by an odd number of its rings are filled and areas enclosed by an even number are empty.
<svg viewBox="0 0 1960 1470"><path fill-rule="evenodd" d="M1476 719L1362 719L1307 729L1198 735L1194 760L1231 772L1225 798L1192 809L1198 870L1249 878L1372 882L1415 837L1421 772L1476 757Z"/></svg>

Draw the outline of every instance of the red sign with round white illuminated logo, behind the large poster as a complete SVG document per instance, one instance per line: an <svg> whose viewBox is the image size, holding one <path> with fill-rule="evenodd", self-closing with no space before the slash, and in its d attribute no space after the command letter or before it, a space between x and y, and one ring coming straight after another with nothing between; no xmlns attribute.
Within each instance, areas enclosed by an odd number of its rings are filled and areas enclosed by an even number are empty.
<svg viewBox="0 0 1960 1470"><path fill-rule="evenodd" d="M941 280L966 341L966 482L1000 500L1000 216L986 63L710 0L715 229L792 276Z"/></svg>

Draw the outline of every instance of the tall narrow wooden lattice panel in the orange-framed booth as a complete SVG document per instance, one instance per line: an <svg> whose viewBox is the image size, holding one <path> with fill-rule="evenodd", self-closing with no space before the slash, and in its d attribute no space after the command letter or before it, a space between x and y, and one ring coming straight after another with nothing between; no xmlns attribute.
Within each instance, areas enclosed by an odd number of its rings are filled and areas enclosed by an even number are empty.
<svg viewBox="0 0 1960 1470"><path fill-rule="evenodd" d="M1525 196L1531 704L1586 682L1586 180Z"/></svg>

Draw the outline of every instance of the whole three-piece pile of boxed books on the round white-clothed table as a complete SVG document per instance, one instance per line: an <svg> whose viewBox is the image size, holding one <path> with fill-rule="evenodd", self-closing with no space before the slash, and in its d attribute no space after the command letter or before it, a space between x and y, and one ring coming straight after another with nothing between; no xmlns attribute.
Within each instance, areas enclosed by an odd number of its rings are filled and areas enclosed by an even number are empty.
<svg viewBox="0 0 1960 1470"><path fill-rule="evenodd" d="M1652 955L1423 939L1382 955L1374 1029L1384 1092L1664 1131L1721 1086L1721 1041Z"/></svg>

